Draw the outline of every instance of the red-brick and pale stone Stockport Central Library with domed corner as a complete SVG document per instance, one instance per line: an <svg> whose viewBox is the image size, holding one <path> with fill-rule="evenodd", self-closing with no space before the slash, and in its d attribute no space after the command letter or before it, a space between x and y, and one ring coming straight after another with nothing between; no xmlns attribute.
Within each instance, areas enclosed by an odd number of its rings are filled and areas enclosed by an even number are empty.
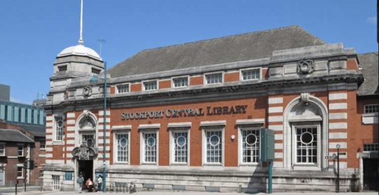
<svg viewBox="0 0 379 195"><path fill-rule="evenodd" d="M274 192L378 190L377 52L289 26L105 61L81 38L56 57L46 190L82 174L115 192L266 192L260 128L274 131Z"/></svg>

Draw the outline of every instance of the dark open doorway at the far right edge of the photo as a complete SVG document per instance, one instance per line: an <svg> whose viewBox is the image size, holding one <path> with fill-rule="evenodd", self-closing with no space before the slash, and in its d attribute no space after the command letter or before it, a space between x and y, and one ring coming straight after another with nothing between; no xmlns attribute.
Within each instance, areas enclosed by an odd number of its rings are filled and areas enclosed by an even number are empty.
<svg viewBox="0 0 379 195"><path fill-rule="evenodd" d="M378 159L363 159L363 189L378 190Z"/></svg>

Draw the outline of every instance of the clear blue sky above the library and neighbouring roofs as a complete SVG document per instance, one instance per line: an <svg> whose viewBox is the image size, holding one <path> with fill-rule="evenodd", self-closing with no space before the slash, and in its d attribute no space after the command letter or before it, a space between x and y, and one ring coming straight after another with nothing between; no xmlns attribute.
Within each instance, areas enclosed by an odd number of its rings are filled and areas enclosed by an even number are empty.
<svg viewBox="0 0 379 195"><path fill-rule="evenodd" d="M149 48L292 25L358 54L378 51L376 0L84 0L83 40L98 54L106 40L110 68ZM0 1L0 84L11 101L49 92L53 63L79 31L80 0Z"/></svg>

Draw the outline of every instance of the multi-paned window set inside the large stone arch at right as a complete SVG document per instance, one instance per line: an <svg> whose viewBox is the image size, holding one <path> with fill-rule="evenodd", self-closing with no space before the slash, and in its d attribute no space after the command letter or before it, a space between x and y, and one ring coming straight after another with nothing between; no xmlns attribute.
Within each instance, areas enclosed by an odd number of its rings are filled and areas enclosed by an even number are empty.
<svg viewBox="0 0 379 195"><path fill-rule="evenodd" d="M297 162L317 164L317 127L297 127Z"/></svg>

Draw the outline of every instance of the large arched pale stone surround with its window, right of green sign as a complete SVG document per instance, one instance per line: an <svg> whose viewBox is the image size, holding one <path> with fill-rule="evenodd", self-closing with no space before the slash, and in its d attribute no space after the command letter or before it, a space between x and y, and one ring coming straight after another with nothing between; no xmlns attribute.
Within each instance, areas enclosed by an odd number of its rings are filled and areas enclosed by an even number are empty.
<svg viewBox="0 0 379 195"><path fill-rule="evenodd" d="M328 114L317 97L302 93L284 114L284 166L292 170L327 170Z"/></svg>

